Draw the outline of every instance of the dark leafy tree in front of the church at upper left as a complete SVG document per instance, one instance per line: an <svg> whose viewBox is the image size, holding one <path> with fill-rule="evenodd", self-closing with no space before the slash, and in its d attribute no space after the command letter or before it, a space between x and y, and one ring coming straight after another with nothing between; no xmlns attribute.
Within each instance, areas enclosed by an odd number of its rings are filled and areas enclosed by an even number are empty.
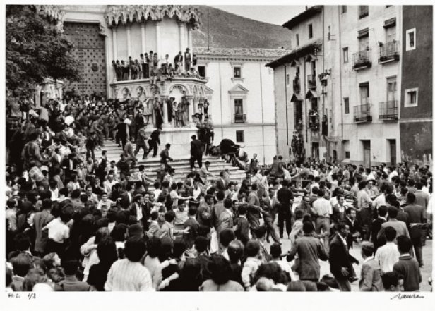
<svg viewBox="0 0 435 311"><path fill-rule="evenodd" d="M29 93L45 78L80 80L73 44L35 6L6 6L6 90Z"/></svg>

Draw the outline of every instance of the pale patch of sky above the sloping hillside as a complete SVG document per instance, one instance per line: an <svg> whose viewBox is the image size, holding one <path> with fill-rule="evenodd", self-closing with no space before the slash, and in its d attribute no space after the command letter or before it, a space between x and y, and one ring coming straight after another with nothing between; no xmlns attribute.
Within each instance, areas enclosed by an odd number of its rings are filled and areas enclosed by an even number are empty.
<svg viewBox="0 0 435 311"><path fill-rule="evenodd" d="M213 6L230 13L260 20L261 22L282 25L305 10L305 6Z"/></svg>

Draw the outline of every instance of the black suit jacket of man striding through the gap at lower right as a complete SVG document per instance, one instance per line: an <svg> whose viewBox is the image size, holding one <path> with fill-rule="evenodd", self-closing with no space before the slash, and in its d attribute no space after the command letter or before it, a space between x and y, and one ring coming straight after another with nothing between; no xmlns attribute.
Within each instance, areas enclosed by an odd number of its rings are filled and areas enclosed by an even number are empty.
<svg viewBox="0 0 435 311"><path fill-rule="evenodd" d="M329 245L329 265L330 272L335 279L347 279L341 272L341 268L347 268L349 276L352 276L352 263L358 263L358 260L349 254L346 245L338 234L336 234Z"/></svg>

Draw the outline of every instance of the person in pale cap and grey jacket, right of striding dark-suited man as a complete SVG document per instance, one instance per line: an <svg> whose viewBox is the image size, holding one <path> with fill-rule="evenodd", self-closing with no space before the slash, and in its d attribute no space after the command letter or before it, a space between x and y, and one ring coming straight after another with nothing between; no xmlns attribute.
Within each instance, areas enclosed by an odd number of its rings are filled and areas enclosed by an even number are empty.
<svg viewBox="0 0 435 311"><path fill-rule="evenodd" d="M374 245L363 242L361 245L362 267L359 291L382 291L381 267L374 260Z"/></svg>

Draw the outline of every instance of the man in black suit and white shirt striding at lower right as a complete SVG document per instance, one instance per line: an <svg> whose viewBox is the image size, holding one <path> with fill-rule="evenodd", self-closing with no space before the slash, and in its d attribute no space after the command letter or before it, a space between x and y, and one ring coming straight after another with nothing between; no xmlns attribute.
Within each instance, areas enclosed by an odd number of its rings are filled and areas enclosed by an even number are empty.
<svg viewBox="0 0 435 311"><path fill-rule="evenodd" d="M349 254L346 237L350 234L349 226L344 222L337 225L337 234L329 245L330 272L335 277L340 291L350 291L350 278L352 278L352 263L359 261Z"/></svg>

